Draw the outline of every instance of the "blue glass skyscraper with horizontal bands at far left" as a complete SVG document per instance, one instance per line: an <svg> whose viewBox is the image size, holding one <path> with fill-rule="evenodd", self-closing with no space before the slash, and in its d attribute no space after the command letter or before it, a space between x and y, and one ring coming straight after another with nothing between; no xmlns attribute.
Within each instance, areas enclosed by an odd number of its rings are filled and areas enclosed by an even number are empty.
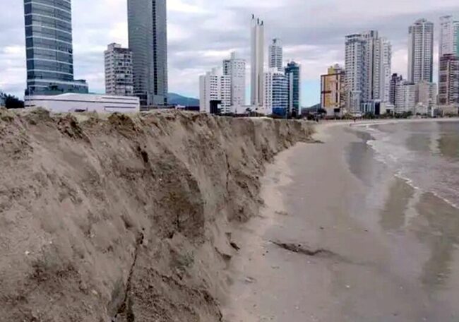
<svg viewBox="0 0 459 322"><path fill-rule="evenodd" d="M88 93L73 78L71 0L24 0L27 89L25 95Z"/></svg>

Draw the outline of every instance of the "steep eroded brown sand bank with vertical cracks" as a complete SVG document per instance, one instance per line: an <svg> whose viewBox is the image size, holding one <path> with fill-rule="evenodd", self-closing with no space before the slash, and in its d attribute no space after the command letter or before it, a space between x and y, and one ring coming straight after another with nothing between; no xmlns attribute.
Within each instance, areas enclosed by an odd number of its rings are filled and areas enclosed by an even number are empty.
<svg viewBox="0 0 459 322"><path fill-rule="evenodd" d="M232 225L258 212L265 162L310 132L0 109L0 321L220 321Z"/></svg>

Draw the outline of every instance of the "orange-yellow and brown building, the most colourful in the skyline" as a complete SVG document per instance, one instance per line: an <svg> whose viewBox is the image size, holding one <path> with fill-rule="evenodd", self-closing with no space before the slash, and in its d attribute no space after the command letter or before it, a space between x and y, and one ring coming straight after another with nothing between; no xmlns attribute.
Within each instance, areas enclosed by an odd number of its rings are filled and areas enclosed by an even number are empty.
<svg viewBox="0 0 459 322"><path fill-rule="evenodd" d="M340 65L330 66L321 76L321 108L327 115L342 114L345 107L345 71Z"/></svg>

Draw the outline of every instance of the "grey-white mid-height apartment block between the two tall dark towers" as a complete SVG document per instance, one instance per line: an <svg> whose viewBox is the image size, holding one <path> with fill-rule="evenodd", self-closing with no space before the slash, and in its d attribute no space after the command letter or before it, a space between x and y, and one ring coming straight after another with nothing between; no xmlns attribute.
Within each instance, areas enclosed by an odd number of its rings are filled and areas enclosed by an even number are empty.
<svg viewBox="0 0 459 322"><path fill-rule="evenodd" d="M121 44L109 44L105 51L105 93L133 96L132 52Z"/></svg>

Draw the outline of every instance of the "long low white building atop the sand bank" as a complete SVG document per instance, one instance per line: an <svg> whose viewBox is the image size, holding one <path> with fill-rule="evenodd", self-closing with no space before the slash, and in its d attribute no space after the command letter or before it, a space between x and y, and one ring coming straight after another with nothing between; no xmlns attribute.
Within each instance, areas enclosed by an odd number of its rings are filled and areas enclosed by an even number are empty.
<svg viewBox="0 0 459 322"><path fill-rule="evenodd" d="M26 96L25 108L36 107L42 107L55 113L136 113L141 110L141 104L138 97L74 93L53 96Z"/></svg>

